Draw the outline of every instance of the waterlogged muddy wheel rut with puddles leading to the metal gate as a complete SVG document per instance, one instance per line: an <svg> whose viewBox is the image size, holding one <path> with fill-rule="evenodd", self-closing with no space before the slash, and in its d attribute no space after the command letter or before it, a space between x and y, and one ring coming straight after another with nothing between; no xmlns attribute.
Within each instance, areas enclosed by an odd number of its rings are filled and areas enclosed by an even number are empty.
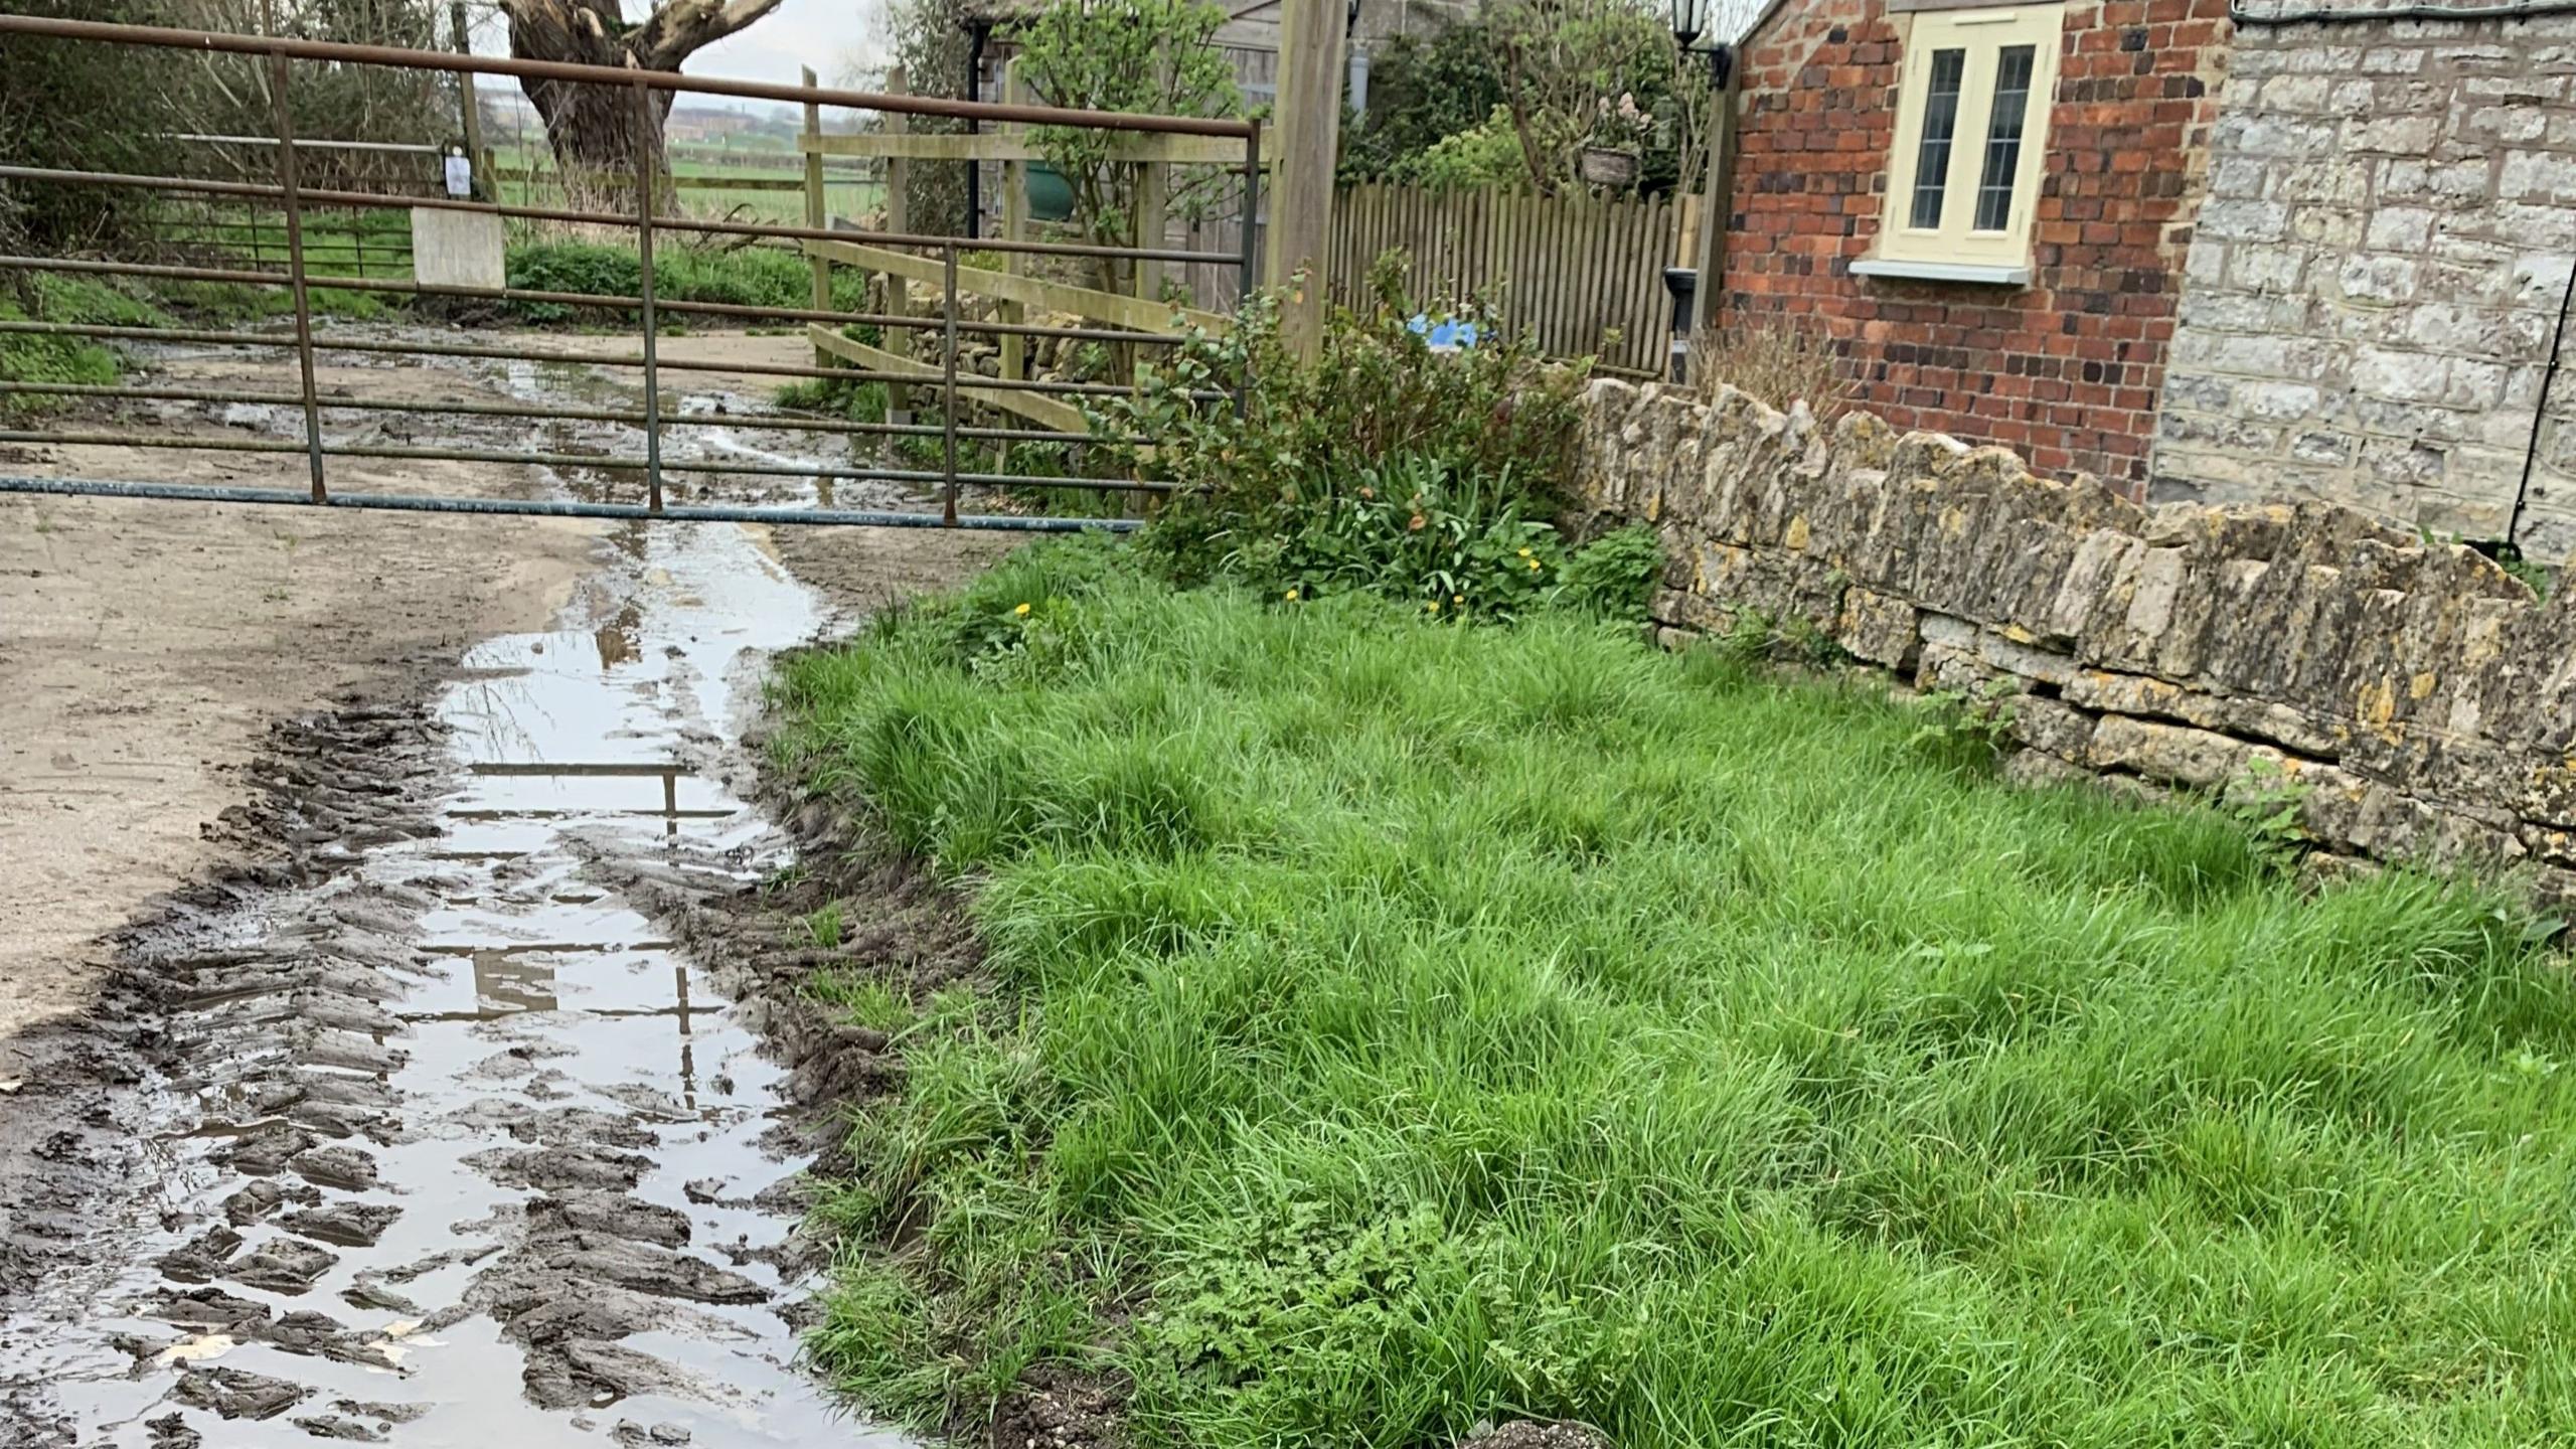
<svg viewBox="0 0 2576 1449"><path fill-rule="evenodd" d="M142 1183L95 1271L0 1320L0 1436L902 1444L793 1364L781 1070L608 884L783 866L708 763L819 606L732 526L605 554L559 629L466 655L438 730L296 766L343 802L319 869L147 944Z"/></svg>

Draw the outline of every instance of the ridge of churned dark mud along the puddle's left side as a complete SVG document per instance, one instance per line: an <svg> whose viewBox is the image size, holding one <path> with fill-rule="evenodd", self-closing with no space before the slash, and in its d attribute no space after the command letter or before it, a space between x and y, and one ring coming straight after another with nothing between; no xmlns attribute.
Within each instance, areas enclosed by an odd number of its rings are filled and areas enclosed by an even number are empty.
<svg viewBox="0 0 2576 1449"><path fill-rule="evenodd" d="M330 1243L371 1243L392 1204L325 1201L322 1189L363 1189L368 1140L389 1132L392 1101L376 1083L397 1024L402 913L417 902L345 895L322 915L252 944L240 918L289 890L327 887L371 841L412 830L435 792L438 753L417 709L340 701L286 719L247 766L252 799L201 828L242 851L175 892L116 938L118 969L98 1006L41 1029L26 1052L18 1111L0 1127L0 1305L59 1302L67 1287L106 1292L152 1227L175 1227L157 1201L167 1163L157 1134L175 1106L204 1104L198 1129L234 1140L209 1152L234 1176L219 1214L160 1261L162 1287L137 1315L160 1330L111 1341L137 1366L173 1346L224 1333L291 1354L381 1361L379 1348L325 1312L273 1315L224 1281L281 1289L337 1258ZM286 1235L245 1250L242 1227ZM26 1328L18 1328L23 1333ZM13 1444L75 1444L33 1385L13 1382L0 1434ZM224 1418L270 1418L307 1395L240 1372L183 1372L178 1395ZM381 1415L361 1415L386 1408ZM309 1413L317 1431L392 1423L397 1405ZM335 1434L348 1436L348 1434ZM193 1444L170 1423L157 1444Z"/></svg>

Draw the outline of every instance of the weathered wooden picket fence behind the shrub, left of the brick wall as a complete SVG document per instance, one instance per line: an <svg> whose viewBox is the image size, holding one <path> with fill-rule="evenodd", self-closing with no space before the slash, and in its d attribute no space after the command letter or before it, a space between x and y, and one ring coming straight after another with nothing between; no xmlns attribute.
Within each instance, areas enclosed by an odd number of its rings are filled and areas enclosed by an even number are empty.
<svg viewBox="0 0 2576 1449"><path fill-rule="evenodd" d="M1669 199L1538 196L1360 183L1332 214L1332 299L1365 302L1368 271L1406 253L1414 297L1486 297L1548 356L1662 374L1672 343L1664 268L1680 255Z"/></svg>

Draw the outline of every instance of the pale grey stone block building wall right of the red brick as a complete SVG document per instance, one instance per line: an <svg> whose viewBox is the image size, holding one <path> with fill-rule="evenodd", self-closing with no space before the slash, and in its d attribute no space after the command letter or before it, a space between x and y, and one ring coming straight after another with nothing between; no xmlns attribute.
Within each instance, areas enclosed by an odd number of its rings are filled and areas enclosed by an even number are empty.
<svg viewBox="0 0 2576 1449"><path fill-rule="evenodd" d="M2241 28L2148 498L2316 498L2566 559L2576 431L2514 500L2571 268L2576 15Z"/></svg>

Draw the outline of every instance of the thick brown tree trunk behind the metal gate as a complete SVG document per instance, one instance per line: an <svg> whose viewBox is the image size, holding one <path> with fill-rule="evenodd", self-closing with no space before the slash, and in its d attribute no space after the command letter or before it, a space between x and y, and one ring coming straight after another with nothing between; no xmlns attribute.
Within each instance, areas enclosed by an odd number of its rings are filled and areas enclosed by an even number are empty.
<svg viewBox="0 0 2576 1449"><path fill-rule="evenodd" d="M621 0L500 0L510 15L510 54L518 59L672 72L778 5L781 0L662 0L641 23L626 26ZM649 106L636 106L626 85L523 80L520 88L546 121L546 144L567 180L585 178L587 186L631 199L639 157L652 175L670 178L670 157L662 155L670 90L647 90ZM652 124L644 121L647 111Z"/></svg>

